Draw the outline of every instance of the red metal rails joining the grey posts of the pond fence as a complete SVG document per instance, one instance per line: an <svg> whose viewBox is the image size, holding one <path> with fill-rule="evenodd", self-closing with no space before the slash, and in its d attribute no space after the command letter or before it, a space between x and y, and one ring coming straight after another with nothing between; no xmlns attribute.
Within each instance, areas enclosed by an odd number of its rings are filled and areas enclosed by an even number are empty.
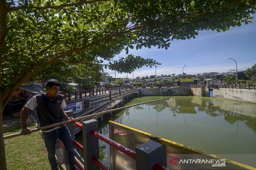
<svg viewBox="0 0 256 170"><path fill-rule="evenodd" d="M75 125L79 126L81 129L83 128L83 125L79 122L75 122ZM122 153L130 156L131 158L133 158L134 160L136 160L136 153L135 151L107 138L106 136L100 134L99 132L96 132L94 130L92 130L90 132L92 135L94 135L96 138L106 142L108 145L116 148L117 150L121 151ZM74 140L74 139L73 139ZM80 145L80 143L79 143ZM100 162L100 160L98 160L96 157L93 157L92 158L92 161L98 166L100 167L102 170L110 170L105 164L103 164L102 162ZM153 167L153 170L169 170L165 167L163 167L162 165L158 164L158 163L155 163L154 167Z"/></svg>

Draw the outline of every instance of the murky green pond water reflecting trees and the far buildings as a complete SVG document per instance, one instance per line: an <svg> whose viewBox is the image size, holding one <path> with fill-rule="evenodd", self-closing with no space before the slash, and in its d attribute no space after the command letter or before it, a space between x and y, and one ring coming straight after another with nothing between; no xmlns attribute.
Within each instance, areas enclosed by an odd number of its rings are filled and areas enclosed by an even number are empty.
<svg viewBox="0 0 256 170"><path fill-rule="evenodd" d="M167 97L135 98L127 105L161 98ZM134 106L113 116L105 115L104 119L99 121L99 131L106 136L107 121L113 120L206 153L256 167L256 104L253 103L175 96L169 102ZM99 145L101 161L110 167L109 146L102 141Z"/></svg>

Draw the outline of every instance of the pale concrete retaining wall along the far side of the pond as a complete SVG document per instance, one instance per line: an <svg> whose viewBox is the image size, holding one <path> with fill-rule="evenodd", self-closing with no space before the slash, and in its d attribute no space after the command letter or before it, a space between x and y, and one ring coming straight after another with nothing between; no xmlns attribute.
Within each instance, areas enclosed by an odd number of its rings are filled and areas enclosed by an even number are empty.
<svg viewBox="0 0 256 170"><path fill-rule="evenodd" d="M209 88L146 88L140 89L143 96L209 96ZM254 89L213 89L213 97L256 103Z"/></svg>

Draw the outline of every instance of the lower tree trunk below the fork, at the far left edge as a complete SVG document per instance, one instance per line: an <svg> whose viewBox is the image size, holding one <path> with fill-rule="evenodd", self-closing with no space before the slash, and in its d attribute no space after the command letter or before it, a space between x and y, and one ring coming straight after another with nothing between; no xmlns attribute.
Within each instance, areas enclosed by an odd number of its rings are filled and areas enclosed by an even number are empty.
<svg viewBox="0 0 256 170"><path fill-rule="evenodd" d="M2 105L0 103L0 105ZM4 131L3 131L3 111L4 108L0 107L0 169L7 170L6 158L5 158L5 142L4 142Z"/></svg>

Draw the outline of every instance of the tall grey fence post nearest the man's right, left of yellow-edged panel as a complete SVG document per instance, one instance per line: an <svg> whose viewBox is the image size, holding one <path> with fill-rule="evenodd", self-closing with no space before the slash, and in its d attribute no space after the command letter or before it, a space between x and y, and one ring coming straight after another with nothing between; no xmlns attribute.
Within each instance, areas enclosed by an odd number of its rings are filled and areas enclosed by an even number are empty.
<svg viewBox="0 0 256 170"><path fill-rule="evenodd" d="M92 157L100 159L99 140L90 134L92 130L98 130L98 121L95 119L82 122L83 125L83 160L85 161L85 170L99 170Z"/></svg>

